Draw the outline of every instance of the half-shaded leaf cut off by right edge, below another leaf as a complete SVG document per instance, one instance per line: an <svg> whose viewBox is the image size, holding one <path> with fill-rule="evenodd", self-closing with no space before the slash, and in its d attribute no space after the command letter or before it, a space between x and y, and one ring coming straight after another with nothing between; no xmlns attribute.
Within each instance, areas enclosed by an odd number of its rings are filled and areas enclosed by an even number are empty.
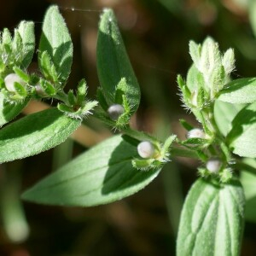
<svg viewBox="0 0 256 256"><path fill-rule="evenodd" d="M242 108L232 121L227 143L233 153L244 157L256 157L256 102Z"/></svg>

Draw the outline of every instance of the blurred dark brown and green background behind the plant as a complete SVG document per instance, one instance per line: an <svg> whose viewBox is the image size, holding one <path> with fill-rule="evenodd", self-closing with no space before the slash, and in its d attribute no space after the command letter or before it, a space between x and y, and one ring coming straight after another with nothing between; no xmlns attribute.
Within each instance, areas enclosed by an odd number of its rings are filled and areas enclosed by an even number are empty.
<svg viewBox="0 0 256 256"><path fill-rule="evenodd" d="M142 89L141 107L132 125L157 137L174 132L183 138L185 131L178 119L198 125L180 107L176 84L177 73L185 77L191 64L190 39L201 43L211 36L220 49L234 48L234 79L256 75L256 40L247 11L253 18L254 9L248 7L249 2L9 0L0 4L0 28L13 30L20 20L34 20L39 39L45 10L50 4L58 4L74 44L67 89L85 78L90 98L95 98L99 84L97 25L102 9L113 8ZM31 71L38 70L36 61L37 54ZM95 119L85 125L106 133L106 127ZM48 207L20 202L21 191L86 149L68 140L43 154L0 166L0 255L175 255L178 218L184 195L196 179L199 163L195 161L173 160L146 189L107 206ZM256 225L247 223L241 255L255 255L255 242Z"/></svg>

